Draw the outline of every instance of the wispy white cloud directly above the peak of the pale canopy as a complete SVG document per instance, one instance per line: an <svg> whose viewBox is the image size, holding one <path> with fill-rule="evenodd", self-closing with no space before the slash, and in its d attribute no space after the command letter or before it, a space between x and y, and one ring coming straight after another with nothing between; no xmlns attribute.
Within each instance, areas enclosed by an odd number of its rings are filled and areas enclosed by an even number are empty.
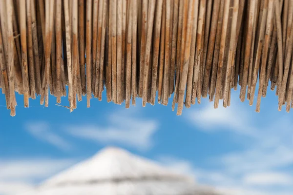
<svg viewBox="0 0 293 195"><path fill-rule="evenodd" d="M123 144L128 147L147 150L152 147L152 136L158 129L154 120L133 115L116 113L107 117L108 125L80 125L67 128L68 134L105 144Z"/></svg>

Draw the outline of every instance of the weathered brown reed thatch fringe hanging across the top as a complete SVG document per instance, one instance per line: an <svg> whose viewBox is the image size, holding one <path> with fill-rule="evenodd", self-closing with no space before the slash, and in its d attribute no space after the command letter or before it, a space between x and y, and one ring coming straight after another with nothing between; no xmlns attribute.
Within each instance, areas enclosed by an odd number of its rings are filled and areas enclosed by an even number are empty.
<svg viewBox="0 0 293 195"><path fill-rule="evenodd" d="M86 95L126 108L146 103L261 98L276 88L293 107L293 0L0 0L0 88L15 116L15 92ZM68 85L68 91L66 91ZM256 89L258 88L258 89ZM256 93L257 91L257 93Z"/></svg>

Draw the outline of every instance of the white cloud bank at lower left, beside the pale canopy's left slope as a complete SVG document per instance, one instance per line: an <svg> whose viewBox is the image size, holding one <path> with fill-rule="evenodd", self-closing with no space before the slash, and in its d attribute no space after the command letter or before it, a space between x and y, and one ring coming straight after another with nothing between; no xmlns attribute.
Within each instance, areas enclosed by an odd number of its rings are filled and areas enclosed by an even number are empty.
<svg viewBox="0 0 293 195"><path fill-rule="evenodd" d="M76 161L50 158L0 159L0 195L29 191L39 180L68 168Z"/></svg>

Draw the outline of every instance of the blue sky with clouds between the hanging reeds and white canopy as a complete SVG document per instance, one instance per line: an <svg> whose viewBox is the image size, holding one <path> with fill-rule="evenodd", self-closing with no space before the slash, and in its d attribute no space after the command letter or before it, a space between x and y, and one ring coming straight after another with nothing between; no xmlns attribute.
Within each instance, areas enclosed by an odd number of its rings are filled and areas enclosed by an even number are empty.
<svg viewBox="0 0 293 195"><path fill-rule="evenodd" d="M176 116L169 105L124 105L91 99L69 113L49 98L49 107L30 100L23 108L17 96L10 117L0 95L0 195L27 190L68 166L93 156L105 146L118 146L192 174L198 183L231 195L292 195L293 114L277 111L275 92L255 103L240 102L232 91L231 106L213 103L184 108ZM84 98L85 100L85 98ZM67 98L61 105L68 106Z"/></svg>

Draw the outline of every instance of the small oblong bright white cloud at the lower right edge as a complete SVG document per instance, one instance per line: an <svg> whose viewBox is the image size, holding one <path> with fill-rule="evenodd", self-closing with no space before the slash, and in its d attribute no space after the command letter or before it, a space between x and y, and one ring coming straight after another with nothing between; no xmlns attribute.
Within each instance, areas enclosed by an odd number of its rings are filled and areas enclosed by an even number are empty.
<svg viewBox="0 0 293 195"><path fill-rule="evenodd" d="M251 173L243 178L248 185L293 185L293 177L284 173Z"/></svg>

